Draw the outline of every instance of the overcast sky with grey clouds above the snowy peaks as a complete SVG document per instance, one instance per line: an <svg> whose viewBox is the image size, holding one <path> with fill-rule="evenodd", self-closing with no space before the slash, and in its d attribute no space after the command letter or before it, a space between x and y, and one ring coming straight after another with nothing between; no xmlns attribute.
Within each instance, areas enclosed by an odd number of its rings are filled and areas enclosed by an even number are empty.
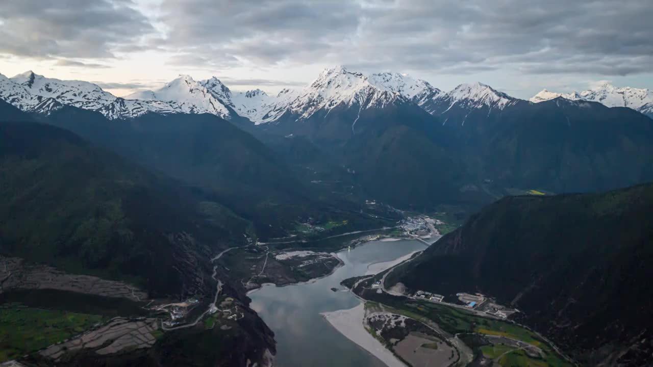
<svg viewBox="0 0 653 367"><path fill-rule="evenodd" d="M3 0L0 73L124 95L178 74L276 92L324 67L515 97L653 88L652 0Z"/></svg>

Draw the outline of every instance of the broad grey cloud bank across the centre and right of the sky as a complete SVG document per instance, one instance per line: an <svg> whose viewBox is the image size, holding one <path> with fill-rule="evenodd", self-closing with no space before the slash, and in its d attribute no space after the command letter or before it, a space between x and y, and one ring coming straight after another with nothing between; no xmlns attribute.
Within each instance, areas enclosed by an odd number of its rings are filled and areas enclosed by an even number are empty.
<svg viewBox="0 0 653 367"><path fill-rule="evenodd" d="M161 14L163 47L187 50L195 65L608 75L653 67L650 0L163 0Z"/></svg>

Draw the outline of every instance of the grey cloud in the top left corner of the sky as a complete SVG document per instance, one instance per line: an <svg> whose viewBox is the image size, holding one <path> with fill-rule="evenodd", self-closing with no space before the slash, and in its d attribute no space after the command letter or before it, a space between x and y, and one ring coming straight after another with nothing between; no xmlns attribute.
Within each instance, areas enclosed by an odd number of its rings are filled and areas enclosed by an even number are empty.
<svg viewBox="0 0 653 367"><path fill-rule="evenodd" d="M114 57L153 31L131 0L0 2L0 53L37 58Z"/></svg>

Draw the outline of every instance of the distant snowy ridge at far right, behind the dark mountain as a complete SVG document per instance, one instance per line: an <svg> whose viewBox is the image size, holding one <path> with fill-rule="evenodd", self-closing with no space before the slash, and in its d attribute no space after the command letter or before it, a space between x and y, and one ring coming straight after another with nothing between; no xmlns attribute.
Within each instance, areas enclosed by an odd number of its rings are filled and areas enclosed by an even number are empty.
<svg viewBox="0 0 653 367"><path fill-rule="evenodd" d="M608 107L629 107L643 114L653 113L653 91L638 88L616 88L612 84L603 83L596 88L588 89L580 93L553 93L544 89L530 99L531 102L539 103L549 101L556 97L563 97L571 101L582 100L605 104Z"/></svg>

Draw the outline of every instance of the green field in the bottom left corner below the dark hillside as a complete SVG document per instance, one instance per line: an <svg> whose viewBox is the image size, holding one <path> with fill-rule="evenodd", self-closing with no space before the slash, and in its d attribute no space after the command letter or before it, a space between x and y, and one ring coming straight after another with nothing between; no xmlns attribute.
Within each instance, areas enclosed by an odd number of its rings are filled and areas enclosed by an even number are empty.
<svg viewBox="0 0 653 367"><path fill-rule="evenodd" d="M0 362L38 351L102 323L104 317L14 306L0 309Z"/></svg>

